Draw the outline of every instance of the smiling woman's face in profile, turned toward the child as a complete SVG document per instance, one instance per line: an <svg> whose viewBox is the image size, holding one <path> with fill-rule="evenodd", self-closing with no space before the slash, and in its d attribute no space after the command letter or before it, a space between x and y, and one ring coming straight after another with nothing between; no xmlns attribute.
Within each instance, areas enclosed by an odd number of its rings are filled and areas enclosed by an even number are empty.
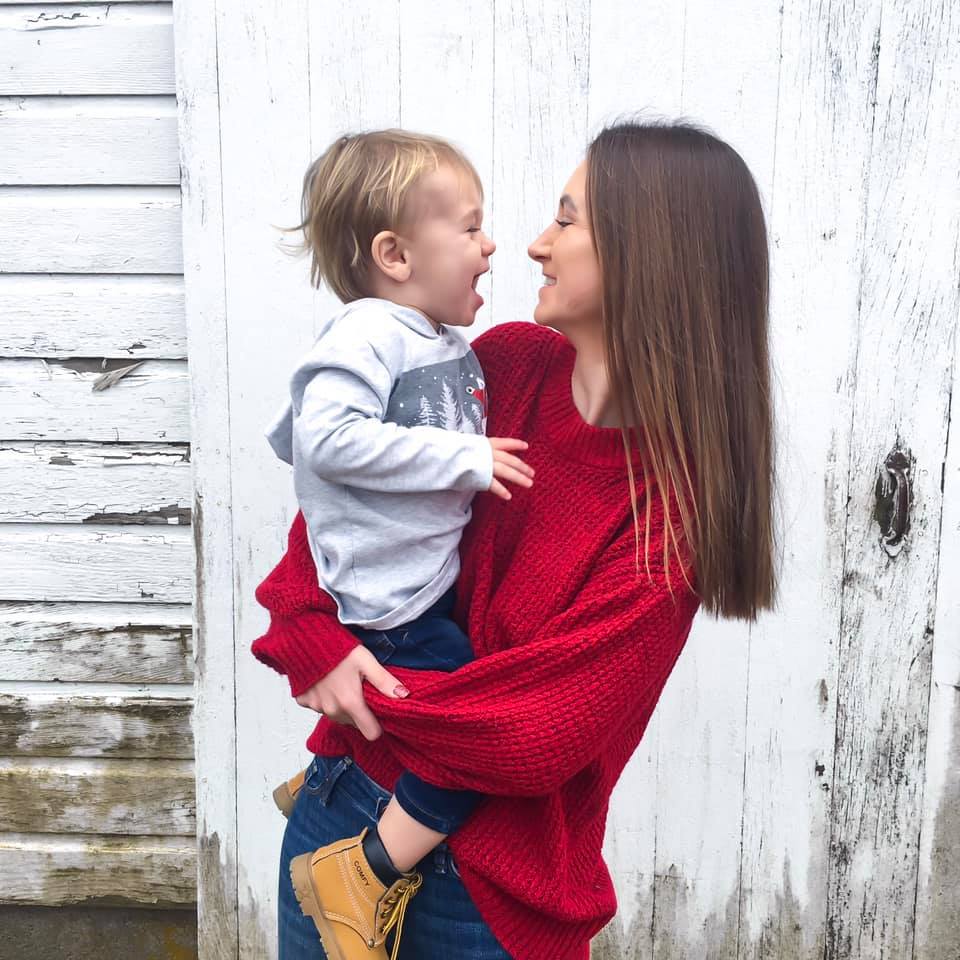
<svg viewBox="0 0 960 960"><path fill-rule="evenodd" d="M533 319L566 334L585 326L599 330L603 285L587 219L586 161L567 181L557 219L527 253L544 276Z"/></svg>

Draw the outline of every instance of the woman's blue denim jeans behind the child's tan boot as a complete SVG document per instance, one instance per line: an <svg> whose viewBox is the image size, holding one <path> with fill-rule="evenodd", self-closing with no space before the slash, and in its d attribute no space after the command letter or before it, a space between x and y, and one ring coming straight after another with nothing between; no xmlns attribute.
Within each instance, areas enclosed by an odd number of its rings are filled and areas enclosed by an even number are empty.
<svg viewBox="0 0 960 960"><path fill-rule="evenodd" d="M293 892L291 859L372 827L389 799L350 757L313 759L280 850L279 960L326 960L317 928ZM445 843L417 869L423 886L407 907L400 960L510 960L470 899ZM388 952L392 939L390 934Z"/></svg>

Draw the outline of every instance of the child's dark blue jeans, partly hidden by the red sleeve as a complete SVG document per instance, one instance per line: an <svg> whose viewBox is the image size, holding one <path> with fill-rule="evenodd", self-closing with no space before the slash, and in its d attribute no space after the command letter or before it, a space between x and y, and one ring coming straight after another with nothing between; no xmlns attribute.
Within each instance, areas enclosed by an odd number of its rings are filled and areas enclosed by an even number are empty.
<svg viewBox="0 0 960 960"><path fill-rule="evenodd" d="M453 620L455 599L451 588L426 613L392 630L351 630L380 663L414 670L456 670L474 657L469 638ZM445 834L463 826L481 796L472 790L436 787L409 770L400 775L394 793L414 820Z"/></svg>

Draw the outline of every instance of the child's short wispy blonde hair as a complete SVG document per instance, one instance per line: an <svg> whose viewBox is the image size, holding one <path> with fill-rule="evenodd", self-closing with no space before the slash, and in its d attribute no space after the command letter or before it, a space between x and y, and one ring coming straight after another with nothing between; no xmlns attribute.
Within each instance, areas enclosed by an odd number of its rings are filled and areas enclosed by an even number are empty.
<svg viewBox="0 0 960 960"><path fill-rule="evenodd" d="M373 238L401 229L411 188L441 163L468 174L483 196L473 164L439 137L406 130L338 137L303 178L294 229L310 251L310 282L322 280L344 302L369 296Z"/></svg>

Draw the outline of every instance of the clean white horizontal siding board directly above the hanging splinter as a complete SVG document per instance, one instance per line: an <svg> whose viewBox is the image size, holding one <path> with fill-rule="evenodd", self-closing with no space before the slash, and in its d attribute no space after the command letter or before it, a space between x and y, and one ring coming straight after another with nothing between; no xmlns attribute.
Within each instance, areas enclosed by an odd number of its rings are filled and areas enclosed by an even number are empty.
<svg viewBox="0 0 960 960"><path fill-rule="evenodd" d="M187 356L180 276L0 274L0 316L0 357Z"/></svg>

